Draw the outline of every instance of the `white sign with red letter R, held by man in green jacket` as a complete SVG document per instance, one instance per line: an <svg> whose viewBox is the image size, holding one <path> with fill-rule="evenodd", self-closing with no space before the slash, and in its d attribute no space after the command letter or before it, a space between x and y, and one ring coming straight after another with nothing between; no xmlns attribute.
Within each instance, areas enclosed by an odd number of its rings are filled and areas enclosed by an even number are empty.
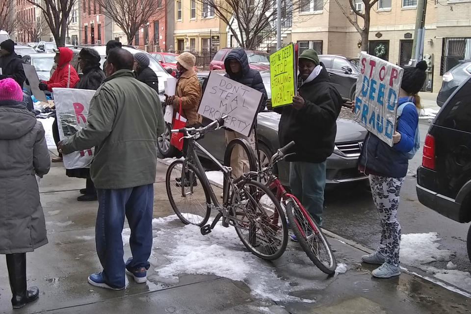
<svg viewBox="0 0 471 314"><path fill-rule="evenodd" d="M73 88L52 88L59 137L66 139L82 129L88 118L88 109L94 90ZM94 148L64 155L66 169L89 168L93 160Z"/></svg>

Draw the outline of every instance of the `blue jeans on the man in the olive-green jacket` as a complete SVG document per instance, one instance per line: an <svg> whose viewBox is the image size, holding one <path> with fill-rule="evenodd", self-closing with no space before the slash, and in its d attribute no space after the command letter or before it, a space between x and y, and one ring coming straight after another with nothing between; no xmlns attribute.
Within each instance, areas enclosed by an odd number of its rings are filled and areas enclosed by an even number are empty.
<svg viewBox="0 0 471 314"><path fill-rule="evenodd" d="M113 288L125 286L123 260L124 217L131 229L129 244L130 267L150 267L147 261L152 249L152 213L154 185L141 185L123 189L98 189L98 214L95 240L105 283Z"/></svg>

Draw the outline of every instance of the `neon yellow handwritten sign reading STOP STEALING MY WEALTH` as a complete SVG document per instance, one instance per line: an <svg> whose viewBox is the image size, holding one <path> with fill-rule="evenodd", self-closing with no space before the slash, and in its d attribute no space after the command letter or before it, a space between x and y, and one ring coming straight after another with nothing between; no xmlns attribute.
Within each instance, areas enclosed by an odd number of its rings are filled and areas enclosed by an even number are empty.
<svg viewBox="0 0 471 314"><path fill-rule="evenodd" d="M294 45L270 55L270 86L273 107L291 104L296 91Z"/></svg>

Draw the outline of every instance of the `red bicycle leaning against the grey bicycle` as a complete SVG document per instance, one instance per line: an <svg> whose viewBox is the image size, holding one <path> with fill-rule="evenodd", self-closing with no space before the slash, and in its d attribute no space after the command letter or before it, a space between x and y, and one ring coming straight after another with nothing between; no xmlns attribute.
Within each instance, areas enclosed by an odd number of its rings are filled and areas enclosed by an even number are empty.
<svg viewBox="0 0 471 314"><path fill-rule="evenodd" d="M271 157L270 163L265 168L260 171L247 172L243 176L252 180L259 178L261 181L266 182L269 189L276 195L277 200L285 208L291 229L306 255L317 268L326 274L332 275L337 268L337 262L325 235L301 202L286 191L274 174L273 169L277 162L294 155L285 155L293 145L294 142L290 142L285 147L280 148Z"/></svg>

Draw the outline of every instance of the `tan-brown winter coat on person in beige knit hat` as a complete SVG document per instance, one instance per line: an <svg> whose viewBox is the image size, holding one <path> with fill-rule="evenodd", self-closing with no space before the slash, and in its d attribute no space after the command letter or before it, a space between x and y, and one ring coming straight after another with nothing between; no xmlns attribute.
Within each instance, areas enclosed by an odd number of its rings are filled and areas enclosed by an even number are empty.
<svg viewBox="0 0 471 314"><path fill-rule="evenodd" d="M178 79L176 94L173 107L174 116L180 108L180 99L182 100L182 116L188 120L187 126L201 123L202 118L198 114L198 106L201 99L201 85L193 70L186 70Z"/></svg>

